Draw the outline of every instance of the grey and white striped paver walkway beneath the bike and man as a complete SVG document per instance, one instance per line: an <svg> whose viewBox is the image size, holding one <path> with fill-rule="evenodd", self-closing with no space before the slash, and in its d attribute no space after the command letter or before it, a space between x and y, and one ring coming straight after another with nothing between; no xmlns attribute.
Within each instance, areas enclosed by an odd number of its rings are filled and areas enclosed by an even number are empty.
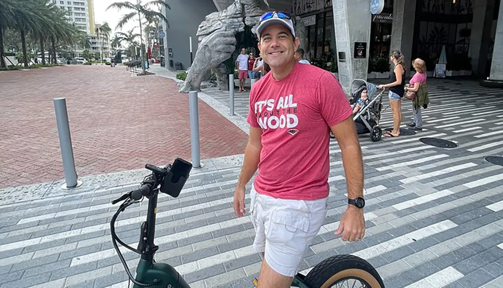
<svg viewBox="0 0 503 288"><path fill-rule="evenodd" d="M341 154L332 140L329 210L301 263L304 273L328 256L351 253L372 263L386 287L501 286L503 167L483 157L503 154L503 92L432 79L430 93L425 131L375 143L367 135L360 138L367 235L358 243L333 235L347 204ZM410 115L410 103L404 102L404 122ZM388 110L382 124L390 123ZM421 137L459 146L436 148L418 141ZM194 171L179 198L159 199L156 260L176 267L192 287L250 287L260 269L260 257L251 249L253 225L249 217L236 218L231 206L240 165L234 159L225 167L214 165L220 169ZM117 209L110 202L127 189L131 186L0 206L0 286L127 287L109 235ZM249 207L248 194L245 204ZM145 211L143 202L119 218L118 234L133 247ZM136 255L124 256L134 271Z"/></svg>

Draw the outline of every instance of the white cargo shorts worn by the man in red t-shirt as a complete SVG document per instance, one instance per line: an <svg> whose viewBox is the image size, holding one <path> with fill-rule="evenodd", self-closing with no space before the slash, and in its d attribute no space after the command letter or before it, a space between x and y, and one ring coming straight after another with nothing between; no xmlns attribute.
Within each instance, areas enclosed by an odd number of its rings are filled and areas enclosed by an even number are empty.
<svg viewBox="0 0 503 288"><path fill-rule="evenodd" d="M257 193L253 186L250 199L254 250L265 253L268 265L279 274L295 276L304 251L324 223L327 199L277 199Z"/></svg>

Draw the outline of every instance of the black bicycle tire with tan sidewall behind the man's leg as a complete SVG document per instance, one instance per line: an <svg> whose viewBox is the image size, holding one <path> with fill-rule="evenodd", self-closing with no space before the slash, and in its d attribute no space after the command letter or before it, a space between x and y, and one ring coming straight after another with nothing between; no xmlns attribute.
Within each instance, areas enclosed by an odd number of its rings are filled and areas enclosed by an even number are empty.
<svg viewBox="0 0 503 288"><path fill-rule="evenodd" d="M372 288L384 288L377 270L366 260L354 255L336 255L319 262L304 278L311 288L327 288L338 280L357 277Z"/></svg>

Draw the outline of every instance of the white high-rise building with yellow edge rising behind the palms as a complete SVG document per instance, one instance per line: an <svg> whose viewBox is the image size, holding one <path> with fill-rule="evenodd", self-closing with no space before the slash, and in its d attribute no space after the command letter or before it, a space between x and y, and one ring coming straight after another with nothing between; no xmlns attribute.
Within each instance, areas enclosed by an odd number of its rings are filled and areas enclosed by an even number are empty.
<svg viewBox="0 0 503 288"><path fill-rule="evenodd" d="M57 7L68 11L75 25L88 34L95 33L93 0L50 0Z"/></svg>

